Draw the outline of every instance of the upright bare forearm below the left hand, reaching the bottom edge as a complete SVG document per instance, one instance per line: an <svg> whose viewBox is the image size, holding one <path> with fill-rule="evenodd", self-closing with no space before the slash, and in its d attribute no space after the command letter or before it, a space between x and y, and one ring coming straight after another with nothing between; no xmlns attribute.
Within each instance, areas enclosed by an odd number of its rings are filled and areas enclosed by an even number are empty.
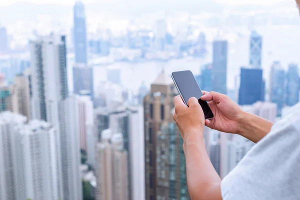
<svg viewBox="0 0 300 200"><path fill-rule="evenodd" d="M184 140L187 186L193 200L220 200L221 179L214 170L207 155L201 134L191 134Z"/></svg>

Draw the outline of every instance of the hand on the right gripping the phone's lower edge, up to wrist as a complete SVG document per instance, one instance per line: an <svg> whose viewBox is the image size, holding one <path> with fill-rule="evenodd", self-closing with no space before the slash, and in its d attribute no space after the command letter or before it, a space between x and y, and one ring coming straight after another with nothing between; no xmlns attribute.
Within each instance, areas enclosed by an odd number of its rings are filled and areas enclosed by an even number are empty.
<svg viewBox="0 0 300 200"><path fill-rule="evenodd" d="M222 132L239 133L242 109L225 94L214 91L202 92L204 95L201 99L208 101L214 115L213 118L205 120L205 125Z"/></svg>

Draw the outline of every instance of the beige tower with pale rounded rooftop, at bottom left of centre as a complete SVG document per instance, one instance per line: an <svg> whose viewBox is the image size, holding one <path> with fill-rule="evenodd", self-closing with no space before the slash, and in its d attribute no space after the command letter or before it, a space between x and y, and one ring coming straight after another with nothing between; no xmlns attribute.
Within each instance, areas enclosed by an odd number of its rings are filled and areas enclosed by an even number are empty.
<svg viewBox="0 0 300 200"><path fill-rule="evenodd" d="M97 199L129 199L127 151L122 134L102 131L97 145Z"/></svg>

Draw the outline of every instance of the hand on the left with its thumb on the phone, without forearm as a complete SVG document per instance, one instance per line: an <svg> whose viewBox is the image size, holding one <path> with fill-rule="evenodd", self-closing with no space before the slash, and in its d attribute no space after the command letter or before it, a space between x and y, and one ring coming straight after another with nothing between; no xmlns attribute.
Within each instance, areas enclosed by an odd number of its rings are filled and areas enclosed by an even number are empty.
<svg viewBox="0 0 300 200"><path fill-rule="evenodd" d="M203 135L204 131L204 113L198 100L191 97L188 99L187 104L188 106L184 104L179 95L174 97L175 112L173 119L178 125L183 141L194 133Z"/></svg>

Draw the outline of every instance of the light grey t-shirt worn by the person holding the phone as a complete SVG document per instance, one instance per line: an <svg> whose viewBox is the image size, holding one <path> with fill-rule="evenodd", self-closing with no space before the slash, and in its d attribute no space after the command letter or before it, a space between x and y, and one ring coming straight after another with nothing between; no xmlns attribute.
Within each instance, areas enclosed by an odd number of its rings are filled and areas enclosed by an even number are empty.
<svg viewBox="0 0 300 200"><path fill-rule="evenodd" d="M221 182L223 200L300 199L300 104Z"/></svg>

